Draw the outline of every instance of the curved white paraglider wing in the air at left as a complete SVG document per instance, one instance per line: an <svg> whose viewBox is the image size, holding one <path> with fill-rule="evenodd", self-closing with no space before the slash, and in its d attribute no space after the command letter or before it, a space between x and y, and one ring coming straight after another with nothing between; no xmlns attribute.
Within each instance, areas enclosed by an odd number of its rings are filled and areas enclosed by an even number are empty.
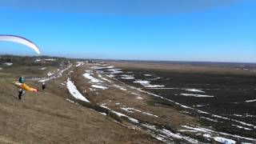
<svg viewBox="0 0 256 144"><path fill-rule="evenodd" d="M15 36L15 35L1 35L0 34L0 41L16 42L16 43L28 46L31 49L33 49L35 52L40 54L40 50L38 49L38 46L36 46L33 42L31 42L30 40L28 40L26 38L22 38L22 37Z"/></svg>

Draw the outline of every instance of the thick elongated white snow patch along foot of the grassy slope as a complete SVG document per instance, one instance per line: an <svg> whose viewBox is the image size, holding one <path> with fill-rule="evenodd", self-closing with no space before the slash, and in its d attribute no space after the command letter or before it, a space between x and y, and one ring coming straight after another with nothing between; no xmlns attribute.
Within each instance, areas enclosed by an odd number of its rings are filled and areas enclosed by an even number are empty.
<svg viewBox="0 0 256 144"><path fill-rule="evenodd" d="M74 86L74 82L70 81L70 78L68 78L66 81L66 87L74 98L77 98L84 102L89 102L84 96L82 96L82 94L80 94L80 92L77 90L77 87Z"/></svg>

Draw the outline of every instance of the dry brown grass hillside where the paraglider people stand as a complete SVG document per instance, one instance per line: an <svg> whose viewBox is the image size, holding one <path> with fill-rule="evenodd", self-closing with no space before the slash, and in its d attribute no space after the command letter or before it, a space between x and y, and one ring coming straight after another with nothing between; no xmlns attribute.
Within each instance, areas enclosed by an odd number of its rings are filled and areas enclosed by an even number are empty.
<svg viewBox="0 0 256 144"><path fill-rule="evenodd" d="M67 74L48 82L45 92L26 92L19 102L18 89L11 82L21 74L45 76L27 66L0 71L0 143L158 143L149 134L66 101L71 97L61 83ZM26 82L41 86L39 82Z"/></svg>

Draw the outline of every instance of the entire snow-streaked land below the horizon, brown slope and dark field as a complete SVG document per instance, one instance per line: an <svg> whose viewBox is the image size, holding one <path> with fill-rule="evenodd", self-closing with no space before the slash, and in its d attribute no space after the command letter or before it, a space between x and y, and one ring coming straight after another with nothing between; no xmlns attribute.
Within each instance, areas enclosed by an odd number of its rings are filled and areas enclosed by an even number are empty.
<svg viewBox="0 0 256 144"><path fill-rule="evenodd" d="M254 66L18 57L0 68L0 143L256 142ZM20 76L39 89L22 101Z"/></svg>

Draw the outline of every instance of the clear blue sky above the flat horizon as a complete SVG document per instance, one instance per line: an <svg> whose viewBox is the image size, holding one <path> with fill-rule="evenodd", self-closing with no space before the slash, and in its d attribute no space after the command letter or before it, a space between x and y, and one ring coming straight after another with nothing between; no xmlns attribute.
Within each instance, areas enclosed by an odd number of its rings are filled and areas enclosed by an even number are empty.
<svg viewBox="0 0 256 144"><path fill-rule="evenodd" d="M3 0L0 34L44 55L170 61L256 62L250 0ZM33 55L0 42L0 54Z"/></svg>

